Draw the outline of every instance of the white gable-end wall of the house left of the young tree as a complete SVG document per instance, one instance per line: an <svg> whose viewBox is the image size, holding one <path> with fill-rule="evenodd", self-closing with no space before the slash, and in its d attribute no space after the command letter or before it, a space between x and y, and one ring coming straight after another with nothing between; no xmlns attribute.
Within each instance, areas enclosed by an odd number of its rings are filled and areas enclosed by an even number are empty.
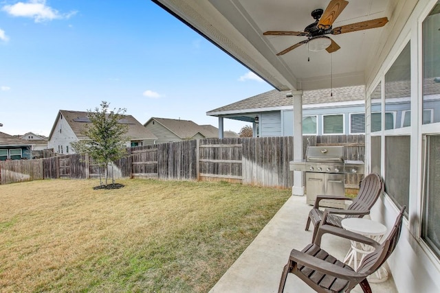
<svg viewBox="0 0 440 293"><path fill-rule="evenodd" d="M74 141L78 141L78 137L76 137L72 128L67 124L63 115L60 115L58 121L56 121L54 133L52 133L52 137L47 142L47 148L54 149L54 153L57 154L75 154L72 145L70 145ZM67 148L69 152L67 152Z"/></svg>

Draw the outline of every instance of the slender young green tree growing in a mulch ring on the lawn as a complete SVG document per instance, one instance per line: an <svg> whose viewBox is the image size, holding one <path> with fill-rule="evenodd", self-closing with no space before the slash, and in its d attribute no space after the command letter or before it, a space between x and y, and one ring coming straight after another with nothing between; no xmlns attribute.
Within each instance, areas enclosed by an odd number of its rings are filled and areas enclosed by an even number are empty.
<svg viewBox="0 0 440 293"><path fill-rule="evenodd" d="M95 111L87 110L91 123L85 126L82 134L89 139L71 143L76 152L87 153L98 164L104 165L105 185L107 185L109 163L126 156L124 141L127 138L124 134L128 131L128 125L120 123L126 109L109 111L109 105L108 102L102 101L101 108L96 107ZM114 183L113 175L112 183ZM102 185L101 177L100 185Z"/></svg>

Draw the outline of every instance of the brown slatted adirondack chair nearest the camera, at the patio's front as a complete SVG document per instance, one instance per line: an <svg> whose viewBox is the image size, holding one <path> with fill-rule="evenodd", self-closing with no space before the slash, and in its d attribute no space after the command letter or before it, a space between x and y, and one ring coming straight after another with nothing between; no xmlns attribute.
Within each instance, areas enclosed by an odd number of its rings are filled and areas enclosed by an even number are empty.
<svg viewBox="0 0 440 293"><path fill-rule="evenodd" d="M371 287L366 277L373 274L393 253L399 240L401 223L406 207L402 207L397 220L388 234L388 237L379 244L369 237L337 228L328 224L318 227L316 241L307 245L302 251L292 250L289 261L283 269L278 293L284 291L287 274L296 274L316 292L350 292L356 285L364 292L371 292ZM331 233L357 242L373 246L375 250L366 255L360 263L358 272L353 268L338 261L320 248L322 235Z"/></svg>

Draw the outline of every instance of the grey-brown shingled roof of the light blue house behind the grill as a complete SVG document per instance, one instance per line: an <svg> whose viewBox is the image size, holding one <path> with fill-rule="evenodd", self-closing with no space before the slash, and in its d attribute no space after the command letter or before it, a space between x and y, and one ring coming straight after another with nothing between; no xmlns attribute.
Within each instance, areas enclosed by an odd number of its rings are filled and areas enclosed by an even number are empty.
<svg viewBox="0 0 440 293"><path fill-rule="evenodd" d="M277 108L292 106L292 97L287 97L289 91L272 90L247 99L242 99L220 108L210 110L206 115L221 114L236 110L255 110L261 108ZM348 102L365 99L364 86L345 86L335 89L320 89L303 92L303 104L325 104L334 102Z"/></svg>

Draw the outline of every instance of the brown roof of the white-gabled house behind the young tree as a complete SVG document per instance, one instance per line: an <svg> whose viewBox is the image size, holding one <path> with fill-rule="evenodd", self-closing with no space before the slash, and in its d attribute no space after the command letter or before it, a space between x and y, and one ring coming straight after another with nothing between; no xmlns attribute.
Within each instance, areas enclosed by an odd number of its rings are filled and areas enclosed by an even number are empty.
<svg viewBox="0 0 440 293"><path fill-rule="evenodd" d="M87 124L90 124L90 119L87 117L89 113L83 112L83 111L70 111L70 110L60 110L58 112L58 115L56 117L54 126L52 126L52 130L50 132L50 136L52 137L52 133L55 130L55 126L60 118L61 115L63 115L63 119L67 121L67 124L72 128L74 133L76 134L76 137L78 139L87 139L83 135L83 130L85 130L85 126ZM131 140L144 140L144 139L157 139L157 137L148 131L142 124L140 124L139 121L135 119L135 117L131 115L122 115L123 118L120 119L120 123L127 124L129 126L128 131L125 134L125 137L131 139Z"/></svg>

